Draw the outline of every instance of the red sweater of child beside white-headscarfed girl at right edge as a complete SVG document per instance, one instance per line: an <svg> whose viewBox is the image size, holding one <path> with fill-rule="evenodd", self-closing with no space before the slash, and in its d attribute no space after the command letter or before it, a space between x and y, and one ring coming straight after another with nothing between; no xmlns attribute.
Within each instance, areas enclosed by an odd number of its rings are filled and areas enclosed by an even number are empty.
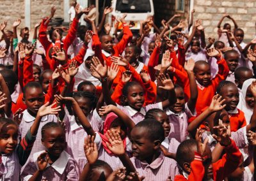
<svg viewBox="0 0 256 181"><path fill-rule="evenodd" d="M244 112L237 109L238 113L228 113L230 120L230 130L236 132L241 127L246 126L246 120L244 117Z"/></svg>

